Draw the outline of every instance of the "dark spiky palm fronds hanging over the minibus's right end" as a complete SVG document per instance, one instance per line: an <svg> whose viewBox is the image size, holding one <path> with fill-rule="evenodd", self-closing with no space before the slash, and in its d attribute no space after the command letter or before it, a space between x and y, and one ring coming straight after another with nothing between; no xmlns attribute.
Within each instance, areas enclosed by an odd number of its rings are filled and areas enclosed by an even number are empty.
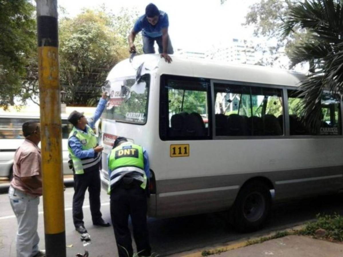
<svg viewBox="0 0 343 257"><path fill-rule="evenodd" d="M291 35L295 27L306 29L310 39L291 52L292 65L313 63L313 72L300 86L299 113L316 128L322 116L323 89L343 93L343 1L298 2L289 9L284 35Z"/></svg>

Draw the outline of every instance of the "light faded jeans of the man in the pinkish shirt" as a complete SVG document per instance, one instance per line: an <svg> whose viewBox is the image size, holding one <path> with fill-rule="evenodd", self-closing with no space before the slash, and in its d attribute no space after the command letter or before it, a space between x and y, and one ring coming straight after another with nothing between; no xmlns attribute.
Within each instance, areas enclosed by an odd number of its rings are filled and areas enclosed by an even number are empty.
<svg viewBox="0 0 343 257"><path fill-rule="evenodd" d="M37 233L39 196L10 187L9 198L17 218L17 257L32 257L38 253Z"/></svg>

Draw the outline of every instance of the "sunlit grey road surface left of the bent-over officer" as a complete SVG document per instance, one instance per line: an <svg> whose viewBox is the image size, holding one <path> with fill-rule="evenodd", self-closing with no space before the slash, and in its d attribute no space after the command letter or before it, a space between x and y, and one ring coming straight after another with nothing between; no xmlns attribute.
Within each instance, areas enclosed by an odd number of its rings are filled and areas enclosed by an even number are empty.
<svg viewBox="0 0 343 257"><path fill-rule="evenodd" d="M110 222L109 197L105 192L102 194L101 211L105 221ZM84 222L88 233L91 235L91 244L83 246L78 232L75 231L72 221L71 199L73 189L67 188L64 192L65 198L70 201L65 202L65 219L66 219L66 247L67 256L73 257L77 253L84 253L87 249L90 257L107 257L118 256L113 227L95 227L92 224L90 215L88 194L86 193L83 211ZM44 219L43 219L43 199L40 198L38 207L38 234L40 236L39 248L45 249L44 244ZM0 257L15 257L15 237L17 224L14 213L11 209L7 194L0 195ZM68 247L69 246L69 247Z"/></svg>

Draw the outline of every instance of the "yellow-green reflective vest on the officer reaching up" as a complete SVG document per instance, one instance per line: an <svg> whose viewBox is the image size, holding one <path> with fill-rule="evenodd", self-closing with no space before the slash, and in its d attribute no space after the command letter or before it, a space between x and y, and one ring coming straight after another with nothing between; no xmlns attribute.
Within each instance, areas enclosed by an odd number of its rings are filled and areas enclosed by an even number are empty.
<svg viewBox="0 0 343 257"><path fill-rule="evenodd" d="M73 127L72 131L69 134L69 139L71 137L76 137L80 140L82 144L82 150L89 150L97 146L97 138L95 137L94 131L88 125L87 127L87 134L82 133L80 130ZM73 160L73 167L75 170L75 174L84 174L84 170L92 168L94 165L97 165L100 162L101 154L95 153L94 157L87 157L79 159L75 156L73 151L71 150L69 143L68 143L68 151L69 157Z"/></svg>

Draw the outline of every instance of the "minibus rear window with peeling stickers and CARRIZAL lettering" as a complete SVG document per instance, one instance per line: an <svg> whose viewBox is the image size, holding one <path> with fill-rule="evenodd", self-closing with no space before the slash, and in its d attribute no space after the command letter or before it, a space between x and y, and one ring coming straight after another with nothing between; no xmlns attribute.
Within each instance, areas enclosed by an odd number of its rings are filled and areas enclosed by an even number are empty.
<svg viewBox="0 0 343 257"><path fill-rule="evenodd" d="M145 124L150 87L150 74L139 80L133 77L110 81L111 94L103 118L116 121Z"/></svg>

